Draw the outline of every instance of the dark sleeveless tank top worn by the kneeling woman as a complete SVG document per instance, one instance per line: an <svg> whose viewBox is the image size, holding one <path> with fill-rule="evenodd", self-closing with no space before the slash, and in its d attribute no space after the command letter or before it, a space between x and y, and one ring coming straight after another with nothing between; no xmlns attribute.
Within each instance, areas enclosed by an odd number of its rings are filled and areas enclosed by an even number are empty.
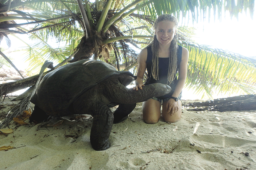
<svg viewBox="0 0 256 170"><path fill-rule="evenodd" d="M152 84L152 83L162 83L162 84L168 84L167 83L167 76L168 76L168 69L169 69L169 58L159 58L159 64L158 64L158 74L159 74L159 79L155 80L152 76L151 73L151 67L152 67L152 49L151 46L147 47L147 75L148 78L146 80L145 85L147 84ZM179 66L181 63L181 57L182 57L182 47L178 45L177 49L177 69L176 72L179 70ZM172 88L171 92L167 95L165 95L163 98L167 98L171 96L174 92L175 86L177 84L177 77L175 76L173 82L170 84L170 87Z"/></svg>

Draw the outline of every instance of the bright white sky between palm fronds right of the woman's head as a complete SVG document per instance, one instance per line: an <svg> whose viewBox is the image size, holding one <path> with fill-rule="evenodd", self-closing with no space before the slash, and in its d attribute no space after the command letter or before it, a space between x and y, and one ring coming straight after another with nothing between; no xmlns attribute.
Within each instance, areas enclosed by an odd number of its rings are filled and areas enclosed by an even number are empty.
<svg viewBox="0 0 256 170"><path fill-rule="evenodd" d="M244 56L255 56L256 12L251 19L249 13L239 14L239 18L226 16L222 21L216 20L194 23L196 30L195 42L201 45L212 45L216 48L239 53Z"/></svg>

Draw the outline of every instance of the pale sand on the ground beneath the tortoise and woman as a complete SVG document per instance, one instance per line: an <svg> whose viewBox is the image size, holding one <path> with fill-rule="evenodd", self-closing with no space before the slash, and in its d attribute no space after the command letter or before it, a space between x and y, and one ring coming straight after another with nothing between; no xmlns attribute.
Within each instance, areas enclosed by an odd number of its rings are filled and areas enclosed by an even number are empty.
<svg viewBox="0 0 256 170"><path fill-rule="evenodd" d="M91 119L64 120L56 127L12 121L14 132L0 135L0 147L16 149L0 151L0 169L256 170L256 111L183 109L177 123L146 124L140 103L127 120L113 125L105 151L91 148L91 125ZM77 139L65 136L76 134Z"/></svg>

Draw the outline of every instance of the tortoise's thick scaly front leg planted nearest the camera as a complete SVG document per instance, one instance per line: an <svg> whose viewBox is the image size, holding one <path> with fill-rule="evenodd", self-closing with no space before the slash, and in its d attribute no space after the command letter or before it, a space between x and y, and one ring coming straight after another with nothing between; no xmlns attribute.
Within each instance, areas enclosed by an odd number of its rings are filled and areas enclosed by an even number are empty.
<svg viewBox="0 0 256 170"><path fill-rule="evenodd" d="M114 116L108 106L99 102L94 106L93 126L91 127L90 142L96 151L110 147L109 136Z"/></svg>

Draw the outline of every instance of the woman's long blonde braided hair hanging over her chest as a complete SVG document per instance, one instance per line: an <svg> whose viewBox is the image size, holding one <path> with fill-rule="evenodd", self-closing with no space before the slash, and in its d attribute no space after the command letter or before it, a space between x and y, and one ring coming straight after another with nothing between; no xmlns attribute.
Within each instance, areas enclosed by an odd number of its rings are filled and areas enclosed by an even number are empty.
<svg viewBox="0 0 256 170"><path fill-rule="evenodd" d="M173 37L173 40L171 41L171 46L170 46L170 55L169 55L169 69L168 69L168 77L167 77L167 81L168 84L172 83L175 76L176 76L176 69L177 69L177 24L178 24L178 20L175 16L170 15L170 14L163 14L160 15L154 23L154 28L157 29L157 24L160 21L171 21L175 23L175 35ZM152 76L155 80L159 79L159 74L158 74L158 64L159 64L159 44L158 44L158 40L156 38L156 35L154 35L154 40L153 42L148 45L148 46L152 46Z"/></svg>

